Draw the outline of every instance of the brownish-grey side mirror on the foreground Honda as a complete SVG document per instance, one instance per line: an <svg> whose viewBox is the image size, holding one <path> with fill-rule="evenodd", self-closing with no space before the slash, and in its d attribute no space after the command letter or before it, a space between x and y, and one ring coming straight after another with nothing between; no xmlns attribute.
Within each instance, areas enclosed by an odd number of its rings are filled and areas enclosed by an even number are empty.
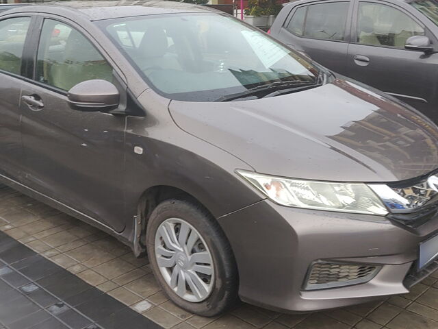
<svg viewBox="0 0 438 329"><path fill-rule="evenodd" d="M120 93L116 86L105 80L88 80L71 88L68 105L83 112L109 112L118 107Z"/></svg>

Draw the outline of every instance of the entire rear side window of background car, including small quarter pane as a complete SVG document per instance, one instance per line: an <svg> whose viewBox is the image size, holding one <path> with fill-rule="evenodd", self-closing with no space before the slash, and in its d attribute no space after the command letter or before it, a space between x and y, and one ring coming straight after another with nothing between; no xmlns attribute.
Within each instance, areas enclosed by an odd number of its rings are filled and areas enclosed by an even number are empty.
<svg viewBox="0 0 438 329"><path fill-rule="evenodd" d="M348 6L348 2L333 2L298 8L286 29L307 38L345 40Z"/></svg>

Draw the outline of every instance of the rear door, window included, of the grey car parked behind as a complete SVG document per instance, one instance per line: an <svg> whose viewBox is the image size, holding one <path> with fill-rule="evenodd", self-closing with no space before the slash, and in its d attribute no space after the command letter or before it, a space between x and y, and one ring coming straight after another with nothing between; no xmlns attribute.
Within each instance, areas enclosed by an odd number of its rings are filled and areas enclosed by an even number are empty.
<svg viewBox="0 0 438 329"><path fill-rule="evenodd" d="M350 1L294 7L281 27L279 40L316 62L345 74L350 32Z"/></svg>

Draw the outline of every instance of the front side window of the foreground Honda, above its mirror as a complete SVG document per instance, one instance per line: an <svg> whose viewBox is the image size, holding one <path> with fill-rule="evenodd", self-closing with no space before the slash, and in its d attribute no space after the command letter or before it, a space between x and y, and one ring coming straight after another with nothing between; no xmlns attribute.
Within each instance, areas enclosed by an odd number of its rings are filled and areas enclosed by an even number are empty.
<svg viewBox="0 0 438 329"><path fill-rule="evenodd" d="M112 82L112 67L76 29L47 19L38 47L36 79L62 90L70 90L87 80Z"/></svg>

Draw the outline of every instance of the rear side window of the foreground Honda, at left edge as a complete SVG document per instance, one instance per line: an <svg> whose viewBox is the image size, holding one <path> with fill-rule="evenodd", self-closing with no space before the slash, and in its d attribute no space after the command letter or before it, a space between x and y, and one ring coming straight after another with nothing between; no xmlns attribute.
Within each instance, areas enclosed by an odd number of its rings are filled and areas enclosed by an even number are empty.
<svg viewBox="0 0 438 329"><path fill-rule="evenodd" d="M21 73L21 59L30 18L20 17L0 21L0 69Z"/></svg>

